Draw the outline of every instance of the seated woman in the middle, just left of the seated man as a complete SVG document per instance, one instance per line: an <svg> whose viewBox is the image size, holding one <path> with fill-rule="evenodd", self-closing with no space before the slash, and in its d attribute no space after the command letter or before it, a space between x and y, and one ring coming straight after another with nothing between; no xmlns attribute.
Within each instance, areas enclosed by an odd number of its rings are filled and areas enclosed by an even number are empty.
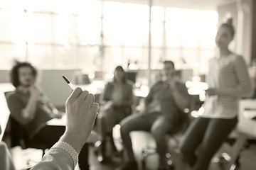
<svg viewBox="0 0 256 170"><path fill-rule="evenodd" d="M121 66L117 66L114 69L114 80L105 86L101 97L103 107L97 116L97 126L102 142L98 155L99 162L103 162L105 159L106 137L111 137L112 146L114 147L112 128L132 111L132 84L127 81L126 74Z"/></svg>

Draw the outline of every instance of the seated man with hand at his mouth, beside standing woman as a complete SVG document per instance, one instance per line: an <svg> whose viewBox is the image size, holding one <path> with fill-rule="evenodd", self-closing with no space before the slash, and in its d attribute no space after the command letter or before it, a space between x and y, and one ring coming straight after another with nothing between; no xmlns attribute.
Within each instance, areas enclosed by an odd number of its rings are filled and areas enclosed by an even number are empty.
<svg viewBox="0 0 256 170"><path fill-rule="evenodd" d="M188 107L189 95L185 84L176 79L174 62L164 62L165 79L156 82L145 98L145 107L139 115L130 115L122 120L121 137L127 151L128 162L117 168L118 170L137 169L137 162L132 151L129 132L134 130L150 131L156 140L159 153L159 169L167 169L165 154L167 144L165 135L178 124L184 109Z"/></svg>

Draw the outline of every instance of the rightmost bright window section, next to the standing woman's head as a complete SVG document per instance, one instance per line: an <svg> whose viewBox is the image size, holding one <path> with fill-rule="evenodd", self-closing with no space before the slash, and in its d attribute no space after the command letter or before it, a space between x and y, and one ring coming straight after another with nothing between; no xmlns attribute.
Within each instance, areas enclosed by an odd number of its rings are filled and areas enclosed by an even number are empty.
<svg viewBox="0 0 256 170"><path fill-rule="evenodd" d="M197 62L199 72L206 73L208 59L215 54L217 23L216 11L166 8L166 59L178 63L178 69L193 69Z"/></svg>

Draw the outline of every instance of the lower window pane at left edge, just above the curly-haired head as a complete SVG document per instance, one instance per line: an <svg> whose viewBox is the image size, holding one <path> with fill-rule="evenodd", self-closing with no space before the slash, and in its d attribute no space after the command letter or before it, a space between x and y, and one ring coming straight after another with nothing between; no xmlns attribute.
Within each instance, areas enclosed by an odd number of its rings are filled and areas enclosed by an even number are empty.
<svg viewBox="0 0 256 170"><path fill-rule="evenodd" d="M11 69L14 60L25 61L26 44L0 45L0 69Z"/></svg>

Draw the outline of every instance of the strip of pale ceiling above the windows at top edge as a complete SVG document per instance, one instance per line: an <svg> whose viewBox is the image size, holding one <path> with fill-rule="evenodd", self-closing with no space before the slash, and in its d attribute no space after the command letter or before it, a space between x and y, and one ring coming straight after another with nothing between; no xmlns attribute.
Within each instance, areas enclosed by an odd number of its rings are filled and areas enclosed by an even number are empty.
<svg viewBox="0 0 256 170"><path fill-rule="evenodd" d="M149 4L150 0L108 0L122 1L135 4ZM198 8L215 10L217 6L229 4L238 0L152 0L152 4L156 6L171 6L180 8Z"/></svg>

